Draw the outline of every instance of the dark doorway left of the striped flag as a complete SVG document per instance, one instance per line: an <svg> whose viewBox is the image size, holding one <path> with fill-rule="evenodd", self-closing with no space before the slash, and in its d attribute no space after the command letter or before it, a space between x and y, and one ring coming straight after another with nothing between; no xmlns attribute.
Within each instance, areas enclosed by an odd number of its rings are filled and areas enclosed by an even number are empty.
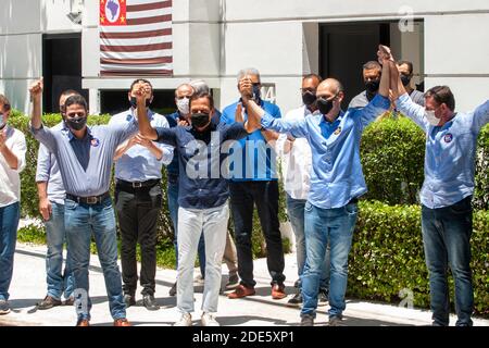
<svg viewBox="0 0 489 348"><path fill-rule="evenodd" d="M43 109L60 112L59 99L66 89L79 91L88 102L88 90L82 89L82 34L45 35L42 38Z"/></svg>

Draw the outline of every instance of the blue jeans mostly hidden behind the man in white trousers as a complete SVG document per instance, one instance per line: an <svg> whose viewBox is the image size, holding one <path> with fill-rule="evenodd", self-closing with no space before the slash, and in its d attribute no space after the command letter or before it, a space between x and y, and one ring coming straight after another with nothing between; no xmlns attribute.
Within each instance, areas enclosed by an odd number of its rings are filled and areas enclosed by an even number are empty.
<svg viewBox="0 0 489 348"><path fill-rule="evenodd" d="M175 231L175 238L173 239L173 246L175 248L176 269L178 269L178 178L168 174L168 211L170 219L172 219L173 229ZM205 276L205 244L203 233L199 239L198 247L200 274Z"/></svg>

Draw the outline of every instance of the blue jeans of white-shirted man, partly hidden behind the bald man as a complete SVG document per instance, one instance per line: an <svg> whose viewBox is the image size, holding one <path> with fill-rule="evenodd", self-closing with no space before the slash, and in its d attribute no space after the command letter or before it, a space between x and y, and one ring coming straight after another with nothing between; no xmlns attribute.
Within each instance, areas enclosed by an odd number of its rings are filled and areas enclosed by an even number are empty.
<svg viewBox="0 0 489 348"><path fill-rule="evenodd" d="M301 276L304 272L305 264L305 235L304 235L304 207L305 199L293 199L287 194L287 214L292 225L293 234L296 235L297 249L297 271L299 275L298 287L302 288ZM326 248L324 257L323 273L321 276L319 288L328 291L329 288L329 246Z"/></svg>

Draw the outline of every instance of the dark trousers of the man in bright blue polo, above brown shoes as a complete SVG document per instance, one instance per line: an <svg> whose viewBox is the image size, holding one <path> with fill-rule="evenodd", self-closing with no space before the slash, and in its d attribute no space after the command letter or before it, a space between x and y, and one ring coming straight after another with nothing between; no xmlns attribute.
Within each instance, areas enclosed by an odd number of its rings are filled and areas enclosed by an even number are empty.
<svg viewBox="0 0 489 348"><path fill-rule="evenodd" d="M284 284L284 249L278 222L278 183L230 182L230 203L235 224L238 273L241 284L253 287L253 256L251 234L253 231L253 204L260 217L266 240L266 264L272 284Z"/></svg>

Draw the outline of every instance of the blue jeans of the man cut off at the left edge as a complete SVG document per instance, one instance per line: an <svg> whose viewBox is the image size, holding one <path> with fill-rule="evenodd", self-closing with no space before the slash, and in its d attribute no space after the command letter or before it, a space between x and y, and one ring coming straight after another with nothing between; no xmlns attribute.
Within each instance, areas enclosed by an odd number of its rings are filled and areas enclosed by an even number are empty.
<svg viewBox="0 0 489 348"><path fill-rule="evenodd" d="M20 219L18 202L0 208L0 300L9 299Z"/></svg>

